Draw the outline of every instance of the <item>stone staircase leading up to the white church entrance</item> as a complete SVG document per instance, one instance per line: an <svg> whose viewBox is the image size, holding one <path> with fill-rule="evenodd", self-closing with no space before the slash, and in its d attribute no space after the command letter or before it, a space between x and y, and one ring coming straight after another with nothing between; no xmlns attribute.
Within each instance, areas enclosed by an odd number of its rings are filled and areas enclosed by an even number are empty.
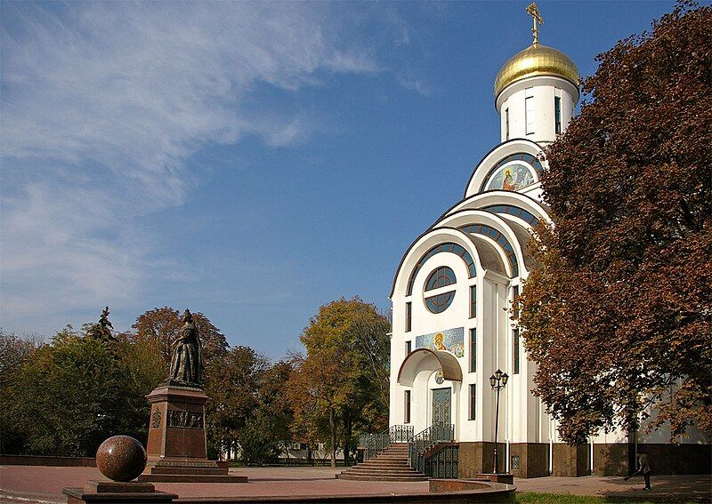
<svg viewBox="0 0 712 504"><path fill-rule="evenodd" d="M394 443L373 459L337 474L338 479L359 481L426 481L423 473L408 463L408 443Z"/></svg>

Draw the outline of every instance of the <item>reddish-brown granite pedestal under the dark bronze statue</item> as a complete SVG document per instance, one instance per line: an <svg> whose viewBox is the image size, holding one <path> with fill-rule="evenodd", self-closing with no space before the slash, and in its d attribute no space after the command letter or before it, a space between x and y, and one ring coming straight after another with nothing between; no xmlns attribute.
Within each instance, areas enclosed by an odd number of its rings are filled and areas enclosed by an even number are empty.
<svg viewBox="0 0 712 504"><path fill-rule="evenodd" d="M150 403L148 468L138 481L153 483L245 483L228 468L207 460L205 404L202 388L164 384L148 396Z"/></svg>

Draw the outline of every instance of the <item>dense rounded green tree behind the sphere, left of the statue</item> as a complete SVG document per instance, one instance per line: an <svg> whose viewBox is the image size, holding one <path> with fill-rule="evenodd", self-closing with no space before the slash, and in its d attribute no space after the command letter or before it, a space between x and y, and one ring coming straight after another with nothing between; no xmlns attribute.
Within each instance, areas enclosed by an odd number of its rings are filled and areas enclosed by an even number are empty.
<svg viewBox="0 0 712 504"><path fill-rule="evenodd" d="M30 453L88 456L118 433L117 360L101 340L71 328L36 350L8 387L9 420Z"/></svg>

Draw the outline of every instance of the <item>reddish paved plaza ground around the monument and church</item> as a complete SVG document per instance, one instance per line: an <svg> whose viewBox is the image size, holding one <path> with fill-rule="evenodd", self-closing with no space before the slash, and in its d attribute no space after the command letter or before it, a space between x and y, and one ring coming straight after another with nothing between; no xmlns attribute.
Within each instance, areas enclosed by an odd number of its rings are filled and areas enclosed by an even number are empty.
<svg viewBox="0 0 712 504"><path fill-rule="evenodd" d="M249 477L247 484L156 484L157 490L189 497L256 497L295 495L407 494L428 492L427 482L375 483L335 479L342 468L233 468ZM105 479L97 468L0 466L0 501L66 502L61 489ZM518 492L555 492L575 495L710 500L712 476L653 476L652 492L643 492L643 479L622 477L541 477L514 479Z"/></svg>

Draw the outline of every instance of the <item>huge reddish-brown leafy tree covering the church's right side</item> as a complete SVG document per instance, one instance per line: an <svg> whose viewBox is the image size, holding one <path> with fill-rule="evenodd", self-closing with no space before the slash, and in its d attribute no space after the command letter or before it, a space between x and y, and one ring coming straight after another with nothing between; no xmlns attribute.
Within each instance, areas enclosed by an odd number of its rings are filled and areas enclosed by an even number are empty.
<svg viewBox="0 0 712 504"><path fill-rule="evenodd" d="M554 227L520 324L536 393L580 443L669 422L712 430L712 9L678 4L599 55L547 153Z"/></svg>

